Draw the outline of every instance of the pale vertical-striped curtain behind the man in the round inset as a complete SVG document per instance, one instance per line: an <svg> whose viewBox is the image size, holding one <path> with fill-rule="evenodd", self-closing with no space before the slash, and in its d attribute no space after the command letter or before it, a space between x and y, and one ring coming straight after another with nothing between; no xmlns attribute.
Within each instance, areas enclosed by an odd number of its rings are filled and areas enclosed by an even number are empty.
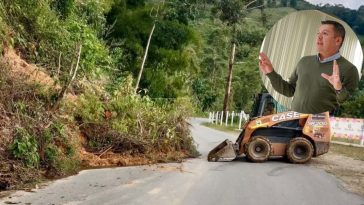
<svg viewBox="0 0 364 205"><path fill-rule="evenodd" d="M288 14L279 20L265 36L261 49L272 61L274 70L287 80L294 71L296 64L303 56L315 55L316 33L321 21L334 20L345 27L346 36L340 53L353 63L361 77L363 50L358 37L344 21L317 10L298 11ZM261 77L268 92L280 104L288 109L291 107L292 97L286 97L276 92L263 75ZM309 83L309 82L307 82Z"/></svg>

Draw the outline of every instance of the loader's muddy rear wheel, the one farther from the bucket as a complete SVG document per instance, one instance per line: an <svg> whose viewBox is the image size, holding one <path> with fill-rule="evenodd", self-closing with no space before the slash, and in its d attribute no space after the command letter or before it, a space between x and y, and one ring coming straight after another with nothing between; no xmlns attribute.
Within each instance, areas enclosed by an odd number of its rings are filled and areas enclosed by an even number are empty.
<svg viewBox="0 0 364 205"><path fill-rule="evenodd" d="M304 137L296 137L289 141L286 149L287 159L294 164L308 162L313 155L312 143Z"/></svg>

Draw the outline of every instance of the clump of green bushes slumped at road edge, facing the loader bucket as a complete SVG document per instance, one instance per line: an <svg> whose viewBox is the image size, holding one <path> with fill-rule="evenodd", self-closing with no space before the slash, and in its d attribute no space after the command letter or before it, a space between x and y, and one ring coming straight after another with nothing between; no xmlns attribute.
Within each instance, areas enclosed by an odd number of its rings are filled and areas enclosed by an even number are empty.
<svg viewBox="0 0 364 205"><path fill-rule="evenodd" d="M134 95L130 77L120 88L106 101L85 93L69 107L90 142L89 150L111 147L114 152L133 154L187 151L189 156L195 155L185 120L192 114L188 100L166 104Z"/></svg>

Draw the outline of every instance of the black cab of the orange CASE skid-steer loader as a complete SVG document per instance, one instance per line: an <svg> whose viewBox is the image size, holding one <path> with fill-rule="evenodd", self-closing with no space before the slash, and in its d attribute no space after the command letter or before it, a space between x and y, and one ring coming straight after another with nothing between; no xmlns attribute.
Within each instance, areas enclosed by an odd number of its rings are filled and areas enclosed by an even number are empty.
<svg viewBox="0 0 364 205"><path fill-rule="evenodd" d="M261 117L288 111L279 104L269 93L259 93L255 96L251 117Z"/></svg>

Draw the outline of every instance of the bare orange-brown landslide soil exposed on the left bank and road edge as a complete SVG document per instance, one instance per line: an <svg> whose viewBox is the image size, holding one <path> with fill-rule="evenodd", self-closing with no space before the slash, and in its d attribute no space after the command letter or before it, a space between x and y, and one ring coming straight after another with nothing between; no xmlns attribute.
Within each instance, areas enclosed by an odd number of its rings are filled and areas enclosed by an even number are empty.
<svg viewBox="0 0 364 205"><path fill-rule="evenodd" d="M11 79L24 83L37 83L45 88L60 90L60 86L47 74L47 72L24 61L13 49L4 49L0 56L0 66L6 67ZM67 94L66 100L72 101L77 96ZM5 113L5 109L0 103L0 198L7 196L11 190L22 189L31 191L49 178L59 176L49 174L49 170L26 168L19 160L10 156L9 145L13 140L14 120L12 116ZM99 152L87 150L87 139L77 129L72 134L79 139L77 155L81 162L81 169L146 165L160 162L181 162L188 157L187 152L155 152L148 154L114 153L112 149L104 149ZM75 173L69 173L75 174ZM63 175L62 177L65 177Z"/></svg>

